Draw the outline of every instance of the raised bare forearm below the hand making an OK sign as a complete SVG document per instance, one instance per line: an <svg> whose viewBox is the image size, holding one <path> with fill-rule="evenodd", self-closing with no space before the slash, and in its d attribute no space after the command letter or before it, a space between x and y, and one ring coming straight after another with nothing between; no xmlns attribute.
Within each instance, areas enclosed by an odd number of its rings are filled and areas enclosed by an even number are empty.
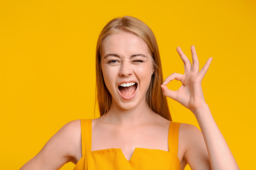
<svg viewBox="0 0 256 170"><path fill-rule="evenodd" d="M204 136L212 169L239 169L207 104L192 111Z"/></svg>

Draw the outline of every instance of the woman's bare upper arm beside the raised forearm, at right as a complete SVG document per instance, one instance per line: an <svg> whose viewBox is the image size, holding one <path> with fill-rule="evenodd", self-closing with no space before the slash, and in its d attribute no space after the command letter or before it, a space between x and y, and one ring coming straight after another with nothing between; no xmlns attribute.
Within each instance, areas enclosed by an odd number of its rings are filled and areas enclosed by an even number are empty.
<svg viewBox="0 0 256 170"><path fill-rule="evenodd" d="M182 123L179 135L185 145L185 162L191 169L211 169L202 132L191 124Z"/></svg>

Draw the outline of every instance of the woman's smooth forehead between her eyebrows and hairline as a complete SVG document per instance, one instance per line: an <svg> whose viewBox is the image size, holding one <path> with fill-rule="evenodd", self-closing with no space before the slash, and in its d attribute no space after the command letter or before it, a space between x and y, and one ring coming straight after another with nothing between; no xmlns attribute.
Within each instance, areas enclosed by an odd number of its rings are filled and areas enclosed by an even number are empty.
<svg viewBox="0 0 256 170"><path fill-rule="evenodd" d="M104 39L102 44L102 54L115 53L122 56L133 54L144 54L149 57L149 49L147 44L138 36L120 32L113 34Z"/></svg>

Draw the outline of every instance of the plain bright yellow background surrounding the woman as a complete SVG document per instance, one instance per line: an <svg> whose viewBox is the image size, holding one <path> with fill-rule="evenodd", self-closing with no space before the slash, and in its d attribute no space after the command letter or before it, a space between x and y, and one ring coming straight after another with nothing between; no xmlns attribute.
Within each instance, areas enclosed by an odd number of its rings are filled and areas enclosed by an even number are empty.
<svg viewBox="0 0 256 170"><path fill-rule="evenodd" d="M65 123L94 118L97 38L108 21L129 15L154 32L164 78L184 73L178 46L191 59L195 45L200 68L213 57L206 102L239 167L256 169L255 7L252 0L1 0L0 168L20 168ZM199 127L188 109L169 103L174 121Z"/></svg>

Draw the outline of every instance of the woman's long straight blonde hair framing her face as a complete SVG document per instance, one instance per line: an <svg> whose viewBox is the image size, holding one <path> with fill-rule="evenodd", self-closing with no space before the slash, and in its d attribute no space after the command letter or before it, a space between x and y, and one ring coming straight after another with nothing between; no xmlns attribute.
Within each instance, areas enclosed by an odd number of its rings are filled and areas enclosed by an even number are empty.
<svg viewBox="0 0 256 170"><path fill-rule="evenodd" d="M166 97L162 94L161 84L163 82L161 60L155 36L151 29L142 21L124 16L111 20L102 30L96 47L96 90L99 104L100 116L107 113L111 106L111 94L104 82L101 69L102 43L105 38L120 32L129 32L140 37L148 46L150 55L153 58L154 73L151 76L150 85L146 93L146 100L149 107L162 116L172 121Z"/></svg>

